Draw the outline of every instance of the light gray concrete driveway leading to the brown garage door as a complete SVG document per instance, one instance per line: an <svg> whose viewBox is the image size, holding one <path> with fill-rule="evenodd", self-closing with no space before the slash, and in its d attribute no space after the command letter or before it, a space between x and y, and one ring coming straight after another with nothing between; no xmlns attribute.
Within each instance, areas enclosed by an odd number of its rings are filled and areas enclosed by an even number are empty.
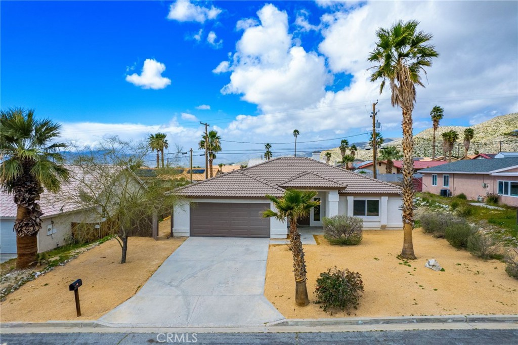
<svg viewBox="0 0 518 345"><path fill-rule="evenodd" d="M135 296L99 321L131 327L239 327L282 320L263 295L268 244L268 238L190 237Z"/></svg>

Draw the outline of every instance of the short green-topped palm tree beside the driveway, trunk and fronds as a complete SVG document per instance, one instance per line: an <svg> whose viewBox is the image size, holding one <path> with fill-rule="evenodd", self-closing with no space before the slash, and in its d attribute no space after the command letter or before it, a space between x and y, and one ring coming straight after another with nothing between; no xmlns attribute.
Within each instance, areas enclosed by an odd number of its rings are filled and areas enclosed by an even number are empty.
<svg viewBox="0 0 518 345"><path fill-rule="evenodd" d="M275 217L281 221L286 218L290 222L290 249L293 254L293 272L295 273L295 303L297 306L309 304L308 290L306 287L307 272L304 250L300 234L297 229L297 220L307 217L313 207L320 205L320 201L313 200L316 196L313 191L298 191L289 189L284 192L282 198L272 195L266 197L274 204L274 210L268 209L263 212L264 218Z"/></svg>

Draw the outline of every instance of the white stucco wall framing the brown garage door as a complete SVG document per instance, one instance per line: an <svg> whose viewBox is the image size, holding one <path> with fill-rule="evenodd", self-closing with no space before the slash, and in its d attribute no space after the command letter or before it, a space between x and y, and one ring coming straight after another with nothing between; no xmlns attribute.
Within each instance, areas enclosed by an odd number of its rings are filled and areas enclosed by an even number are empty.
<svg viewBox="0 0 518 345"><path fill-rule="evenodd" d="M173 212L174 236L190 236L190 203L236 203L236 204L270 204L270 209L276 210L273 203L266 199L191 199L175 205ZM270 218L270 238L286 238L288 234L287 222Z"/></svg>

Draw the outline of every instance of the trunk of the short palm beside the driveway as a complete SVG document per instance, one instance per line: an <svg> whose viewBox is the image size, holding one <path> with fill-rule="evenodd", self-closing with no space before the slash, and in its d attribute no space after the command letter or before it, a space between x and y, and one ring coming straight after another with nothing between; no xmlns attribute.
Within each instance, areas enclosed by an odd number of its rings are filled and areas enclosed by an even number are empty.
<svg viewBox="0 0 518 345"><path fill-rule="evenodd" d="M297 220L290 221L290 245L293 254L293 272L295 273L295 304L299 307L305 307L309 304L306 286L306 260L300 234L297 230Z"/></svg>

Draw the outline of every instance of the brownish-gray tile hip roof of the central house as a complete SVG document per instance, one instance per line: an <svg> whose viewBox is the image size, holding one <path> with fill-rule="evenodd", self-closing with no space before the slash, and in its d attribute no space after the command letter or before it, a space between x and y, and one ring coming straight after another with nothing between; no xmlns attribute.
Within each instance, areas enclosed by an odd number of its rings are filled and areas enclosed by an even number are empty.
<svg viewBox="0 0 518 345"><path fill-rule="evenodd" d="M177 190L190 197L282 196L283 188L330 188L342 194L399 194L394 184L336 168L307 157L278 157Z"/></svg>

